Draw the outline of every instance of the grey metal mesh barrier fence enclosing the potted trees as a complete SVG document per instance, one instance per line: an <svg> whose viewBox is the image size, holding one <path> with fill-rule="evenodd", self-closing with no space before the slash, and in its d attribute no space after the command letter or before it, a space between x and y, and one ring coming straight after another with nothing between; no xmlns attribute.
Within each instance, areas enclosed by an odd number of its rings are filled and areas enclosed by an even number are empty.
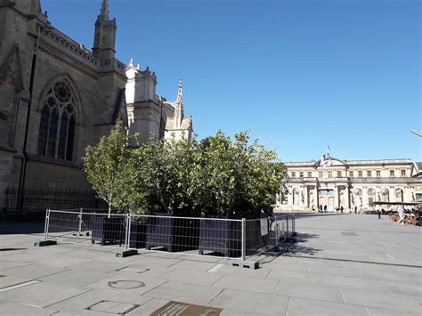
<svg viewBox="0 0 422 316"><path fill-rule="evenodd" d="M49 210L44 239L79 245L239 258L278 246L292 235L295 218L227 219L172 215Z"/></svg>

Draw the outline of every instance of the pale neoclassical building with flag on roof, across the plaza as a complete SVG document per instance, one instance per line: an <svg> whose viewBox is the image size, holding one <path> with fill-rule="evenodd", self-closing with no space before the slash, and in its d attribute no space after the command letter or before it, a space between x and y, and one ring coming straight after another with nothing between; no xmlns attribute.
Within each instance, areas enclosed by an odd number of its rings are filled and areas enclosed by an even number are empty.
<svg viewBox="0 0 422 316"><path fill-rule="evenodd" d="M422 164L410 159L341 160L330 158L315 168L315 161L288 162L286 194L276 209L311 211L327 206L329 212L371 210L373 202L422 201Z"/></svg>

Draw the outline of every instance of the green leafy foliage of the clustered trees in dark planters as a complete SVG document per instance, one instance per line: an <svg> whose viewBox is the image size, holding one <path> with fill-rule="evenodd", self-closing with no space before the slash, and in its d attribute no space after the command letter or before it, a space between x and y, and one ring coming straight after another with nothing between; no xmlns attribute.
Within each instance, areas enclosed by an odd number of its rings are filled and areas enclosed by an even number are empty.
<svg viewBox="0 0 422 316"><path fill-rule="evenodd" d="M140 143L118 124L88 146L84 162L110 209L138 214L256 216L272 208L287 178L275 151L250 142L247 132Z"/></svg>

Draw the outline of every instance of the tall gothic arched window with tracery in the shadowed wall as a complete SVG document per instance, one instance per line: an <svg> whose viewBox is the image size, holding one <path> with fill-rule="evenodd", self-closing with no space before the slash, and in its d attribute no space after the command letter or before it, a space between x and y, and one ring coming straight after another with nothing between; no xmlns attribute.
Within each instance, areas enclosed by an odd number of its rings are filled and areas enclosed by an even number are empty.
<svg viewBox="0 0 422 316"><path fill-rule="evenodd" d="M72 160L77 126L69 85L59 81L45 94L39 125L38 155Z"/></svg>

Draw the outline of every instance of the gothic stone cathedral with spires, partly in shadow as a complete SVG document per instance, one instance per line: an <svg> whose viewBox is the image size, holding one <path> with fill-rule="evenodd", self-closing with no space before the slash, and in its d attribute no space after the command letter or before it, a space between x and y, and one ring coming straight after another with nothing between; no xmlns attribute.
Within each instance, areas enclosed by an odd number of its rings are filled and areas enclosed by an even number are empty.
<svg viewBox="0 0 422 316"><path fill-rule="evenodd" d="M54 28L39 0L0 0L0 209L7 187L90 189L85 147L118 119L142 140L191 136L182 83L166 101L153 71L119 61L117 21L98 1L88 50Z"/></svg>

